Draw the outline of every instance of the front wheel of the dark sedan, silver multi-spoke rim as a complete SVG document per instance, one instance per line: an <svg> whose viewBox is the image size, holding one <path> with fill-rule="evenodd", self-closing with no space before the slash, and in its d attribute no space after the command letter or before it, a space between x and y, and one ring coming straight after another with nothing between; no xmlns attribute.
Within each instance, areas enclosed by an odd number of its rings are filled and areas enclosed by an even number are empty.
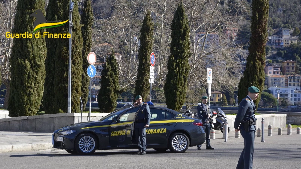
<svg viewBox="0 0 301 169"><path fill-rule="evenodd" d="M92 154L97 149L97 139L93 134L83 133L76 137L75 149L83 155Z"/></svg>

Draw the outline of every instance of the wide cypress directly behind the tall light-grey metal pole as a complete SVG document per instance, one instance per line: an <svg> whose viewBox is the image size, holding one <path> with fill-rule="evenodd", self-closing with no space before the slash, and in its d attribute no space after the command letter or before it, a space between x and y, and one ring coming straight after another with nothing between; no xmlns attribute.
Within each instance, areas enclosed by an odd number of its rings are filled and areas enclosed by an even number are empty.
<svg viewBox="0 0 301 169"><path fill-rule="evenodd" d="M80 15L78 11L78 0L74 0L74 10L72 14L72 73L71 73L71 112L80 111L81 87L82 87L82 31L80 25ZM69 19L69 0L61 3L62 18ZM60 33L69 33L69 24L59 26ZM55 91L55 112L68 111L68 63L69 63L69 38L60 38L57 41L54 66L54 91Z"/></svg>

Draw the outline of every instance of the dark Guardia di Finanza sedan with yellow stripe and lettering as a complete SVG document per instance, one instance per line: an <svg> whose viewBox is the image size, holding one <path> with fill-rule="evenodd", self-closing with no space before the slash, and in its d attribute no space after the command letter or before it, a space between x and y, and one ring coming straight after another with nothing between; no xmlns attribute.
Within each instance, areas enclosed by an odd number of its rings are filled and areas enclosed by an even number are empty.
<svg viewBox="0 0 301 169"><path fill-rule="evenodd" d="M140 108L119 109L99 121L70 124L57 129L52 135L53 148L84 155L95 150L137 149L133 124ZM189 146L205 142L200 119L162 107L150 107L150 111L151 122L146 129L147 148L183 153Z"/></svg>

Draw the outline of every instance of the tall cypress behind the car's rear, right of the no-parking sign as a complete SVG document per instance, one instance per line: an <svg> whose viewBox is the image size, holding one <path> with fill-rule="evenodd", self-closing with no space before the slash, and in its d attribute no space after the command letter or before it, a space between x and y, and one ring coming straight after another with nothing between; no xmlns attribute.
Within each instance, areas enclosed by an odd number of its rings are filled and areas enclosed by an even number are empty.
<svg viewBox="0 0 301 169"><path fill-rule="evenodd" d="M189 73L188 58L190 53L188 17L185 14L182 1L175 11L171 24L171 47L167 63L164 94L169 109L178 111L185 103L187 78Z"/></svg>

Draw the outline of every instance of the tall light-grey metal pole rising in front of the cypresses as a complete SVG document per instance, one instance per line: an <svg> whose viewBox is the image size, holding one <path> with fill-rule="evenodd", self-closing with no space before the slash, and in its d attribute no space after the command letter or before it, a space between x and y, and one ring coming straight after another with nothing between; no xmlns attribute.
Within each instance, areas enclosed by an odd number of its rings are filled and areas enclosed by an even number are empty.
<svg viewBox="0 0 301 169"><path fill-rule="evenodd" d="M69 3L69 8L71 7L71 2L70 0ZM69 21L72 23L72 13L69 12ZM71 65L72 65L72 27L69 25L69 33L70 33L70 38L69 38L69 70L68 70L68 113L71 113Z"/></svg>

